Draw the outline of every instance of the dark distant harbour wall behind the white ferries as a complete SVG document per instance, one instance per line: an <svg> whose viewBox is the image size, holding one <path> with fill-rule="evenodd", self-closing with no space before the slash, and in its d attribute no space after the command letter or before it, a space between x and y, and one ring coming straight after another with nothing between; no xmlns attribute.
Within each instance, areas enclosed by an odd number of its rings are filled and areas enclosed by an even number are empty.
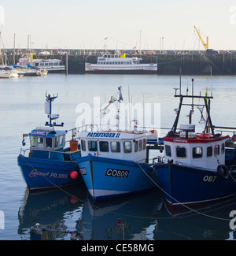
<svg viewBox="0 0 236 256"><path fill-rule="evenodd" d="M236 75L236 54L136 54L142 63L157 63L157 75L212 76ZM129 55L127 55L129 57ZM45 56L37 56L45 58ZM61 59L66 63L65 55L51 55L46 58ZM68 74L83 74L85 62L96 63L98 55L68 54ZM16 58L17 61L17 58Z"/></svg>

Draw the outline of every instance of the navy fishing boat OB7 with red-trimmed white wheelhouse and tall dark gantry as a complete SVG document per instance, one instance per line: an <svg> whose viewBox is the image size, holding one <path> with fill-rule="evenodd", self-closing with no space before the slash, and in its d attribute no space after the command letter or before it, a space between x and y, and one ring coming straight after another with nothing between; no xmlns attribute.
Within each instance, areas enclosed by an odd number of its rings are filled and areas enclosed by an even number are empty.
<svg viewBox="0 0 236 256"><path fill-rule="evenodd" d="M236 195L236 150L229 135L215 132L219 127L213 126L210 116L213 97L181 93L175 97L179 98L175 122L163 138L166 168L156 168L169 209L199 207ZM183 106L190 107L187 124L179 124ZM196 125L192 124L195 106L201 113L202 132L195 132ZM227 129L225 132L230 129L220 128Z"/></svg>

